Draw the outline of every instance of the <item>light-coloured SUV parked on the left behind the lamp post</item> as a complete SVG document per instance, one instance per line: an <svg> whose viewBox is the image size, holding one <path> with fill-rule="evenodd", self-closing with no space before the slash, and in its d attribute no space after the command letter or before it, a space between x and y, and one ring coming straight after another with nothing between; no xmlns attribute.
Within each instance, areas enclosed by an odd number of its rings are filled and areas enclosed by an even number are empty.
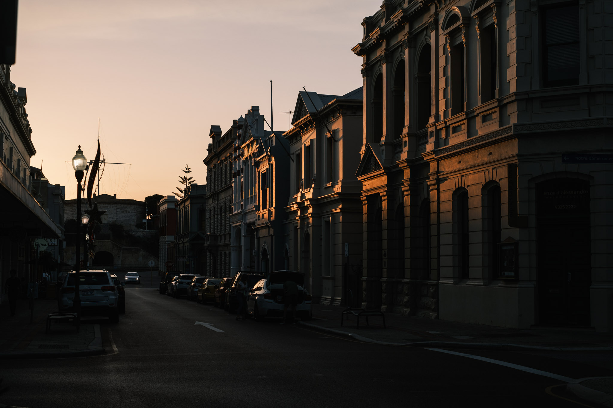
<svg viewBox="0 0 613 408"><path fill-rule="evenodd" d="M75 272L67 273L59 289L59 311L74 310L75 275ZM111 322L119 322L119 294L109 271L79 272L79 292L83 316L108 316Z"/></svg>

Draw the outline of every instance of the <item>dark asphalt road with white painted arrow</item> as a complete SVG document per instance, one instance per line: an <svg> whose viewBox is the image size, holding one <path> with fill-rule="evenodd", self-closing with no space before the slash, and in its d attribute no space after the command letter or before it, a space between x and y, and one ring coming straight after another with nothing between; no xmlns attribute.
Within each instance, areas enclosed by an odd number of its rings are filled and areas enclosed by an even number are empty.
<svg viewBox="0 0 613 408"><path fill-rule="evenodd" d="M274 320L236 321L211 305L160 295L153 284L126 287L127 311L119 324L96 321L108 354L2 361L2 385L10 390L0 403L31 408L579 407L594 405L567 395L563 377L613 375L610 356L586 361L585 354L569 359L451 351L528 366L552 378L445 351L360 343Z"/></svg>

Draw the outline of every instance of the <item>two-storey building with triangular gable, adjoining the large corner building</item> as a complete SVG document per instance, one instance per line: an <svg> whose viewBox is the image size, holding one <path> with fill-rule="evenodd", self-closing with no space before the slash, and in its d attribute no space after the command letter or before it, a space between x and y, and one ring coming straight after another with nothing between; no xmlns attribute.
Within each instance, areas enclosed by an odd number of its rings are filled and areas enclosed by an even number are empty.
<svg viewBox="0 0 613 408"><path fill-rule="evenodd" d="M299 92L292 128L284 133L293 161L289 177L281 176L275 187L289 187L286 269L304 272L321 303L347 303L349 290L354 301L361 286L356 259L362 255L362 185L356 168L362 118L361 87L342 96Z"/></svg>

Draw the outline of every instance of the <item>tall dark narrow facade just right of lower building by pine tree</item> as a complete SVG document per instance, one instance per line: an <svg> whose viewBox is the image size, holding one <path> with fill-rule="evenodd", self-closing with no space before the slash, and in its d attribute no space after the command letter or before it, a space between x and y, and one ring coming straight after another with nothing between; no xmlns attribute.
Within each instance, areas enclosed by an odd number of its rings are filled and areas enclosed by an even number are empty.
<svg viewBox="0 0 613 408"><path fill-rule="evenodd" d="M230 276L230 220L232 213L232 155L238 135L238 121L227 132L211 126L207 157L206 218L207 231L204 248L207 256L207 275L223 278Z"/></svg>

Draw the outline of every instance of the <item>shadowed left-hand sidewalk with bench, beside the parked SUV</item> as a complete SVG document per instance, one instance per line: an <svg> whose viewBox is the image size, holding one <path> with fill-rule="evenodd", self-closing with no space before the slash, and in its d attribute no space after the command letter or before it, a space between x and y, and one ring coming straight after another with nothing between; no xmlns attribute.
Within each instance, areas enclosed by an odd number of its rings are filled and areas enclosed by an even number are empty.
<svg viewBox="0 0 613 408"><path fill-rule="evenodd" d="M34 319L30 323L27 300L17 302L17 315L10 317L8 303L0 308L0 359L83 357L104 353L100 325L53 323L45 333L47 315L57 311L55 299L35 299Z"/></svg>

